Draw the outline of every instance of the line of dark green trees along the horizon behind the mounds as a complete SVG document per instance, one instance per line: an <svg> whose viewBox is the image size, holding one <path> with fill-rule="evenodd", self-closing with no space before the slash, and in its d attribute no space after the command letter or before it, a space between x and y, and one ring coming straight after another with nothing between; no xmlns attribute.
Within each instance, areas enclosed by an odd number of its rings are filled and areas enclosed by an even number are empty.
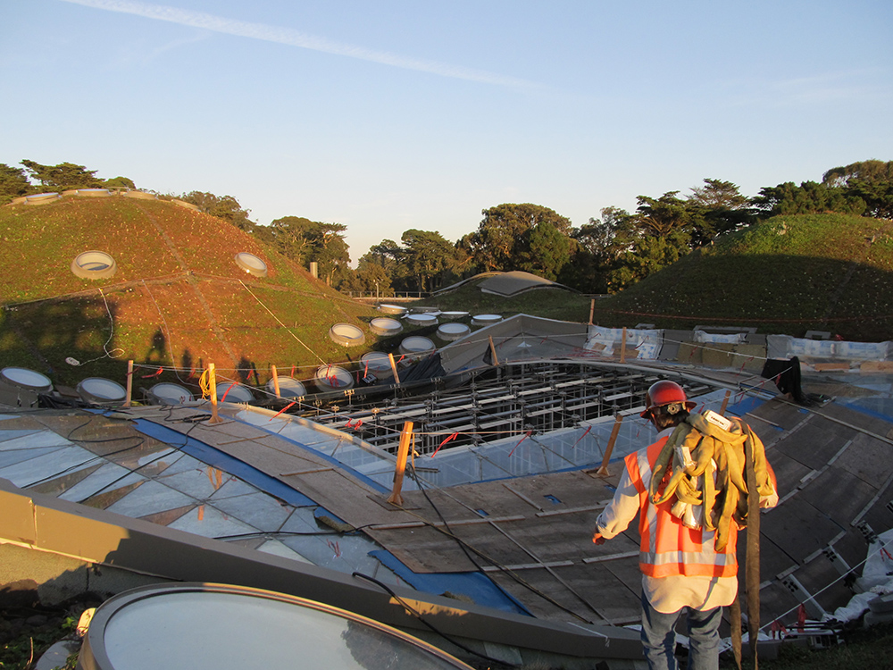
<svg viewBox="0 0 893 670"><path fill-rule="evenodd" d="M22 168L0 164L0 203L13 197L69 188L136 188L132 180L96 178L82 165ZM399 242L382 239L350 267L346 226L285 216L259 225L231 196L192 191L178 196L220 217L281 254L309 267L342 291L376 293L441 289L479 272L531 272L584 293L613 293L661 270L697 247L777 214L836 212L893 218L893 161L861 161L831 168L821 182L785 182L746 197L730 181L638 196L634 212L605 207L575 228L543 205L496 205L482 211L477 230L450 242L436 230L406 230ZM168 196L171 197L171 196Z"/></svg>

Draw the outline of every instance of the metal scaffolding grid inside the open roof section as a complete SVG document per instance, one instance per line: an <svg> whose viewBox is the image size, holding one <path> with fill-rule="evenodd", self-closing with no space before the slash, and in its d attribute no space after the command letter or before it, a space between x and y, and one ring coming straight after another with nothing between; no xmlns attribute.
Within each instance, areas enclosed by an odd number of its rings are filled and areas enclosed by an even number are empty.
<svg viewBox="0 0 893 670"><path fill-rule="evenodd" d="M391 452L404 423L411 421L414 448L428 455L447 439L449 448L479 446L512 435L578 427L632 410L643 406L647 388L664 376L592 362L507 363L464 373L461 382L436 384L413 395L350 398L346 408L335 414L320 412L313 420L339 428L347 422L363 440ZM689 396L711 389L678 381Z"/></svg>

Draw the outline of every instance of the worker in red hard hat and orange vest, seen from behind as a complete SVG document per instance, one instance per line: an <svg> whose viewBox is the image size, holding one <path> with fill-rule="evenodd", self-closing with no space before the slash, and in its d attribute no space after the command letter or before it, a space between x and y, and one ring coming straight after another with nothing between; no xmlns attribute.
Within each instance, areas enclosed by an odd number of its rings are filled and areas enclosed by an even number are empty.
<svg viewBox="0 0 893 670"><path fill-rule="evenodd" d="M690 518L673 515L673 499L658 504L653 502L649 495L652 470L664 444L676 426L689 419L695 403L686 398L685 390L674 381L652 384L646 400L641 416L654 424L657 439L624 459L620 483L613 500L598 515L592 541L603 544L625 531L639 515L641 637L648 667L652 670L675 670L678 667L673 654L676 646L674 627L684 613L689 636L689 670L715 670L719 666L722 607L730 605L738 594L735 552L738 525L731 521L725 546L716 549L716 532L691 523ZM662 477L661 486L665 486L669 478L668 469L663 473L666 477ZM771 490L774 494L774 485ZM774 500L772 496L766 498L765 507L778 501L777 495Z"/></svg>

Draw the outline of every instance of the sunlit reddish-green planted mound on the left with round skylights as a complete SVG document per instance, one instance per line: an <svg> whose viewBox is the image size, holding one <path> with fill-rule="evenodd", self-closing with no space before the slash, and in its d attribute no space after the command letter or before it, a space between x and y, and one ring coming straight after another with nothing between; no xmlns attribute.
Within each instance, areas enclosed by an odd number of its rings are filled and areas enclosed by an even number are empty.
<svg viewBox="0 0 893 670"><path fill-rule="evenodd" d="M270 364L287 374L296 366L295 376L308 378L323 362L367 350L333 343L333 323L353 323L375 340L371 307L234 226L171 202L68 196L9 205L0 208L0 243L0 366L50 372L57 383L120 381L129 359L197 373L213 362L225 376L252 371L251 381L254 370L264 381ZM71 272L89 250L113 256L113 277ZM240 268L240 252L263 259L268 276Z"/></svg>

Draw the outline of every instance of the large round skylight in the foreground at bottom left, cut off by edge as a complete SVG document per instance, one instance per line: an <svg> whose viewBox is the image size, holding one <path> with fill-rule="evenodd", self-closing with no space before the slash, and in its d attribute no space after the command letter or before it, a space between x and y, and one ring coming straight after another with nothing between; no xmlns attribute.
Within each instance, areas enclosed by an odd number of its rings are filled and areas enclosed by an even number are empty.
<svg viewBox="0 0 893 670"><path fill-rule="evenodd" d="M96 608L78 665L97 670L471 670L418 638L324 603L228 584L151 584Z"/></svg>

